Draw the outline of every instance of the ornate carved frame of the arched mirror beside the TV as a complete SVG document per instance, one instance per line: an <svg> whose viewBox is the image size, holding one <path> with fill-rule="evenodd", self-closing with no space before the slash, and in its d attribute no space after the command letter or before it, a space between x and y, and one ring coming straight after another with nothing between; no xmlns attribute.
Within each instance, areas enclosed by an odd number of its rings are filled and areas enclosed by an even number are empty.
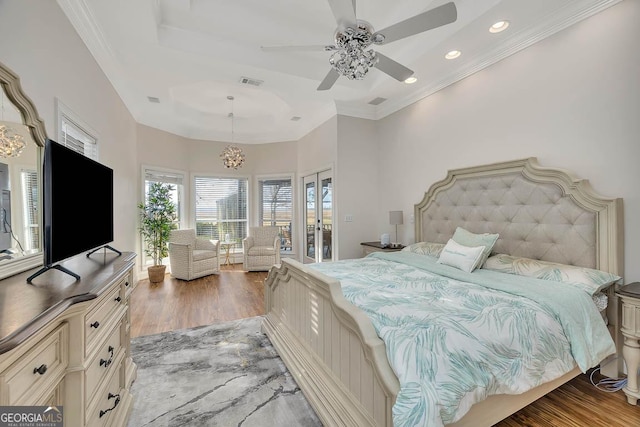
<svg viewBox="0 0 640 427"><path fill-rule="evenodd" d="M14 73L9 67L0 62L0 85L4 90L7 98L13 102L15 107L20 111L23 124L29 128L31 137L36 145L44 147L47 140L47 132L44 121L38 115L38 110L33 101L23 91L20 84L20 77ZM37 164L42 165L42 149L38 150ZM42 173L38 171L38 188L42 189ZM42 242L42 190L38 195L38 208L40 211L40 252L26 255L15 260L9 260L0 265L0 279L13 276L34 267L38 267L43 263L43 242Z"/></svg>

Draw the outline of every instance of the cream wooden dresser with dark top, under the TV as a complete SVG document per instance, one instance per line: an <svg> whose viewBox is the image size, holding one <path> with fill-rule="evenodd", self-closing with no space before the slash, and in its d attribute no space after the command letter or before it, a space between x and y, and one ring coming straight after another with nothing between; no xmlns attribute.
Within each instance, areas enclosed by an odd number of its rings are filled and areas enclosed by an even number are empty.
<svg viewBox="0 0 640 427"><path fill-rule="evenodd" d="M0 281L0 405L60 406L67 427L125 426L136 365L129 297L135 254L84 254Z"/></svg>

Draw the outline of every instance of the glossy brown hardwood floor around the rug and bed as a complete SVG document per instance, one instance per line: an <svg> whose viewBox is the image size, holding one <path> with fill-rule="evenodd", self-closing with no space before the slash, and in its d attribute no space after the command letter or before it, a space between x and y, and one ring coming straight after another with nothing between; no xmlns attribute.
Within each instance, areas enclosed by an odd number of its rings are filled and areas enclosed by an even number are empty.
<svg viewBox="0 0 640 427"><path fill-rule="evenodd" d="M190 282L169 275L160 284L140 281L131 296L131 336L264 314L263 282L267 273L246 273L241 268L241 264L224 267L220 275ZM596 389L587 374L496 424L496 427L586 426L640 426L640 407L629 405L622 391L607 393Z"/></svg>

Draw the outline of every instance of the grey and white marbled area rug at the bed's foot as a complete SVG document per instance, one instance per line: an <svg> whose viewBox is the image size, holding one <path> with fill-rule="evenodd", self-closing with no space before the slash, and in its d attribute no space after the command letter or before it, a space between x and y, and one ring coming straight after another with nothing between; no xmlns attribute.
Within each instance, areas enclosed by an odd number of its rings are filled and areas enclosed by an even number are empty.
<svg viewBox="0 0 640 427"><path fill-rule="evenodd" d="M321 426L262 317L137 337L128 427Z"/></svg>

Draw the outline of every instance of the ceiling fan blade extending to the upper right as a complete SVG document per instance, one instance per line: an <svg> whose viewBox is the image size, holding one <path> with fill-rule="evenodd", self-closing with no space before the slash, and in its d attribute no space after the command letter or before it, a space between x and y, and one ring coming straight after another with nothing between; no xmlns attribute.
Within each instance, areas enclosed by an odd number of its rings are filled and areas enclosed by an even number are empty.
<svg viewBox="0 0 640 427"><path fill-rule="evenodd" d="M455 22L456 19L458 19L456 5L453 2L446 3L376 32L376 34L384 36L384 40L376 44L391 43L414 34L450 24Z"/></svg>

